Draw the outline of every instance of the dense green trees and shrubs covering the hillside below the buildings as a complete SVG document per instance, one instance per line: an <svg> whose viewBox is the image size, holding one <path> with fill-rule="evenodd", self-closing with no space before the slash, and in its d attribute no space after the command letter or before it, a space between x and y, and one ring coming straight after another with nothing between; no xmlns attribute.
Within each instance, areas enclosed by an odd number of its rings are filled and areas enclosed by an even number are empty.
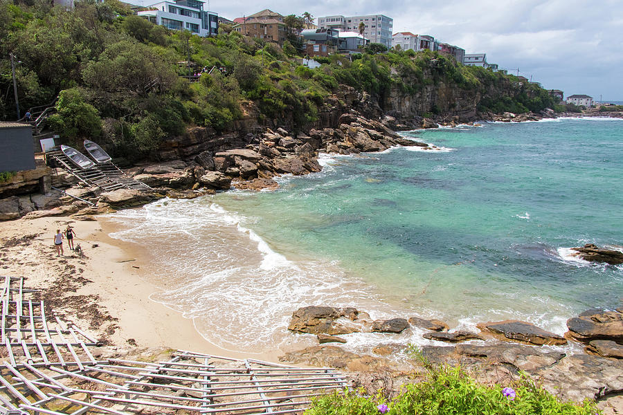
<svg viewBox="0 0 623 415"><path fill-rule="evenodd" d="M55 103L55 132L69 140L96 138L130 159L152 156L164 138L190 125L231 131L249 108L257 109L260 124L305 131L343 85L369 93L381 109L392 93L415 95L431 86L478 95L483 112L555 109L535 84L519 85L512 75L463 66L428 50L381 53L371 45L352 59L318 58L322 66L311 69L291 42L280 47L222 32L203 38L168 30L117 0L80 1L74 10L42 0L5 1L0 86L12 88L12 54L21 108ZM206 72L199 82L191 82L201 68ZM445 112L431 104L422 113ZM14 117L11 94L0 96L0 119Z"/></svg>

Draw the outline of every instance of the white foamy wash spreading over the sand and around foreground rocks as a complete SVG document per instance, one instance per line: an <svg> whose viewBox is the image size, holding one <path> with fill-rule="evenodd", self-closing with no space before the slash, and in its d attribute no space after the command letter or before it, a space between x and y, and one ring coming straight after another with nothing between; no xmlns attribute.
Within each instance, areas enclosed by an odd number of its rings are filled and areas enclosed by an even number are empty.
<svg viewBox="0 0 623 415"><path fill-rule="evenodd" d="M235 197L252 197L240 192ZM499 316L518 318L559 333L565 317L559 304L543 304L535 315L524 311L452 310L449 314L424 306L384 302L376 288L347 275L335 261L289 259L252 230L255 219L230 212L213 198L163 200L136 210L108 216L124 230L111 234L150 248L150 273L165 283L151 298L193 320L197 331L218 347L233 351L300 349L316 344L314 336L287 330L294 310L306 305L356 306L372 319L421 315L445 319L459 315L453 329L476 330L476 323ZM547 301L547 299L535 299ZM465 315L469 314L469 317ZM554 315L554 317L552 317ZM565 317L563 317L565 316ZM251 324L250 324L251 322ZM348 350L371 348L383 342L435 344L412 327L399 335L354 333L347 335Z"/></svg>

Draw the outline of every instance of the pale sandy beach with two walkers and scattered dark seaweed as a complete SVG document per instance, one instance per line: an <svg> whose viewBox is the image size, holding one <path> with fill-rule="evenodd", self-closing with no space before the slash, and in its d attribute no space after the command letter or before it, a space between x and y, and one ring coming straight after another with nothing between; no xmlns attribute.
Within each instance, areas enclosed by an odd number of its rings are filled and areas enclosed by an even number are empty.
<svg viewBox="0 0 623 415"><path fill-rule="evenodd" d="M63 243L64 256L57 257L53 236L71 225L75 244L84 252L78 257ZM0 223L2 275L21 276L27 288L42 291L55 313L116 349L171 348L231 358L263 358L216 347L195 330L193 321L150 295L159 286L143 268L146 255L131 243L108 236L106 219L75 221L53 216ZM272 353L271 353L272 354Z"/></svg>

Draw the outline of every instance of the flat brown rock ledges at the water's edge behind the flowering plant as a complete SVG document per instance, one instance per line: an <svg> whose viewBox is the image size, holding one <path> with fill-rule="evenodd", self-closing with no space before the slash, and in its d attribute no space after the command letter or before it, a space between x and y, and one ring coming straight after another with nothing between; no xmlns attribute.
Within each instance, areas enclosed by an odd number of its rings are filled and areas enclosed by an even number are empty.
<svg viewBox="0 0 623 415"><path fill-rule="evenodd" d="M347 343L341 335L355 332L401 333L411 327L431 330L424 338L442 342L488 340L478 344L425 346L378 344L372 353L358 354L328 342ZM318 346L286 353L282 362L330 366L345 371L356 387L367 393L382 389L394 396L399 385L423 374L426 365L461 365L478 380L503 384L521 373L528 374L563 400L597 400L604 414L623 410L623 306L617 310L592 309L572 317L564 336L517 320L478 324L480 333L449 331L440 320L412 316L371 320L356 308L307 306L294 311L288 329L311 333ZM556 347L568 341L585 346L586 354L570 354ZM415 374L415 375L414 375Z"/></svg>

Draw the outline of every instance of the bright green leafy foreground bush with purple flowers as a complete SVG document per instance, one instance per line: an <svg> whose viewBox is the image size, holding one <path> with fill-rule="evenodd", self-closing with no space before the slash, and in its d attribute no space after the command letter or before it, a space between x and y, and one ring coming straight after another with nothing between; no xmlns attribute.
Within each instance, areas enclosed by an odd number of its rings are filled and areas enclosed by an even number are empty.
<svg viewBox="0 0 623 415"><path fill-rule="evenodd" d="M594 415L595 403L563 403L522 375L511 385L486 386L460 367L429 369L423 382L404 385L391 402L381 395L365 398L352 391L314 400L306 415Z"/></svg>

